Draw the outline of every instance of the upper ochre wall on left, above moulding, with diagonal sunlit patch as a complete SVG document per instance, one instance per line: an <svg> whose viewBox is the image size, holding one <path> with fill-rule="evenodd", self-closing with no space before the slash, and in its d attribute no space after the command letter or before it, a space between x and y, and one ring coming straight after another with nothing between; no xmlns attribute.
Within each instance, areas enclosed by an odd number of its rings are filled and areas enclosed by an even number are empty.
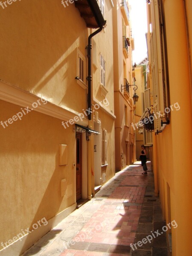
<svg viewBox="0 0 192 256"><path fill-rule="evenodd" d="M86 92L75 79L76 48L86 58L87 28L75 4L13 2L0 7L0 23L0 79L42 93L56 105L79 112L87 107Z"/></svg>

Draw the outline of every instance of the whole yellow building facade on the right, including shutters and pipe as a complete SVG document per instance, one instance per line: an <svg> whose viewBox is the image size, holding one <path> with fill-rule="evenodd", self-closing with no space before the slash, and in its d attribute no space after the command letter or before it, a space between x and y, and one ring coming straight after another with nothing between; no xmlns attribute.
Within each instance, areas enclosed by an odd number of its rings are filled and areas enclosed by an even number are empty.
<svg viewBox="0 0 192 256"><path fill-rule="evenodd" d="M191 254L192 2L147 1L153 171L173 256ZM156 116L155 116L156 115Z"/></svg>

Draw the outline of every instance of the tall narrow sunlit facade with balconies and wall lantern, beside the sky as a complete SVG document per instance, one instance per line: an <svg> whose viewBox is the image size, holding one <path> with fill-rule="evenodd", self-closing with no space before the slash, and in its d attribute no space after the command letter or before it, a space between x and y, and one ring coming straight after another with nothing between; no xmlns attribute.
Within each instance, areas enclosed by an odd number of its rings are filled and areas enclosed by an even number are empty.
<svg viewBox="0 0 192 256"><path fill-rule="evenodd" d="M130 7L128 1L115 0L113 8L113 76L115 104L115 165L122 170L136 159L134 122L134 79L132 75L132 50Z"/></svg>

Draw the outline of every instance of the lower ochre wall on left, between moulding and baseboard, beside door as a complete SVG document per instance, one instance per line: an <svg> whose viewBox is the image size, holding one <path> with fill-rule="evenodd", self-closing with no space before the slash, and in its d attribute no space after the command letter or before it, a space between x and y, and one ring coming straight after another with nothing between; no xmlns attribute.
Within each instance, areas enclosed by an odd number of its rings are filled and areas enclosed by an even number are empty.
<svg viewBox="0 0 192 256"><path fill-rule="evenodd" d="M0 101L0 109L4 121L20 106ZM21 229L30 230L38 220L48 221L75 203L76 139L72 126L64 129L61 120L33 111L4 129L0 126L0 141L0 241L6 242ZM59 144L68 145L65 166L58 165ZM68 198L61 197L62 179L72 184Z"/></svg>

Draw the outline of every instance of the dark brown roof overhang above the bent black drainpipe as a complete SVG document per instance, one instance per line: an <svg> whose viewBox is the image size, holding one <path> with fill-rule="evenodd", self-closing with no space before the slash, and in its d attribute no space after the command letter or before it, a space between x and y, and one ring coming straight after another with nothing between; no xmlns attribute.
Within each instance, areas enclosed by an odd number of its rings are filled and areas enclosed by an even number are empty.
<svg viewBox="0 0 192 256"><path fill-rule="evenodd" d="M75 2L75 6L79 9L88 28L97 29L105 25L106 21L97 0L79 0Z"/></svg>

